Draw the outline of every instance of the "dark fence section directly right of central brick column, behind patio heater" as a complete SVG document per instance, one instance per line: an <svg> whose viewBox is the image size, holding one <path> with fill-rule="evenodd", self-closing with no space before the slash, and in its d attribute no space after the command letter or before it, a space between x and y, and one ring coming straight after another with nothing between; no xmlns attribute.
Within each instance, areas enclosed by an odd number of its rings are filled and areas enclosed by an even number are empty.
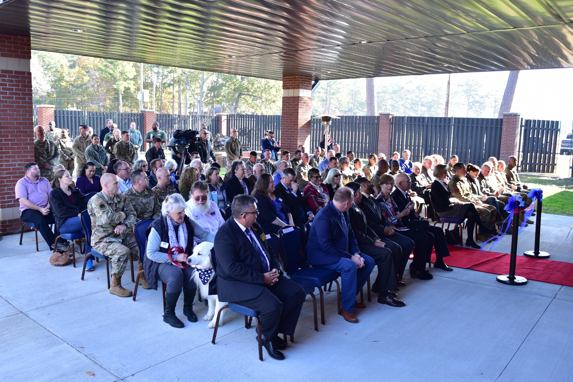
<svg viewBox="0 0 573 382"><path fill-rule="evenodd" d="M367 158L378 150L378 117L376 116L341 116L333 119L328 128L332 139L340 145L340 152L354 151L356 158ZM323 140L324 128L320 119L311 119L311 147L308 153Z"/></svg>

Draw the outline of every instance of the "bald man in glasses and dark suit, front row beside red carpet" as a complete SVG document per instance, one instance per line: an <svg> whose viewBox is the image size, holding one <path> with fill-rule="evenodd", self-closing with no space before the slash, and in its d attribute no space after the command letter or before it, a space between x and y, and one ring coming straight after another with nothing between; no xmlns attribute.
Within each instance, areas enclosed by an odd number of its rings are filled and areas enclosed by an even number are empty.
<svg viewBox="0 0 573 382"><path fill-rule="evenodd" d="M410 198L408 190L410 189L411 180L406 174L398 174L396 176L396 189L392 193L392 198L398 206L397 213L406 209L409 204L414 204ZM410 220L425 220L423 217L419 216L414 209L410 209L410 213L401 218L402 225L407 227ZM451 272L453 269L450 268L444 262L444 257L450 256L448 250L448 244L446 244L446 237L444 236L444 230L438 228L434 225L428 226L428 232L426 234L426 251L424 258L415 258L412 265L412 272L423 270L426 268L426 262L430 261L432 247L435 248L434 268L439 268ZM423 262L422 262L423 261Z"/></svg>

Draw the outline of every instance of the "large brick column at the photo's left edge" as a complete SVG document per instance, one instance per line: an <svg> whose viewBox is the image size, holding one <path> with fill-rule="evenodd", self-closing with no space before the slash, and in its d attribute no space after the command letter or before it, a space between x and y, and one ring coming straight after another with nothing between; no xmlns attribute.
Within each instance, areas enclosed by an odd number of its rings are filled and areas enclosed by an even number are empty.
<svg viewBox="0 0 573 382"><path fill-rule="evenodd" d="M30 37L0 33L0 117L10 133L0 153L1 232L19 232L21 222L14 185L23 165L34 160ZM52 113L52 118L54 114ZM11 151L11 150L13 151Z"/></svg>

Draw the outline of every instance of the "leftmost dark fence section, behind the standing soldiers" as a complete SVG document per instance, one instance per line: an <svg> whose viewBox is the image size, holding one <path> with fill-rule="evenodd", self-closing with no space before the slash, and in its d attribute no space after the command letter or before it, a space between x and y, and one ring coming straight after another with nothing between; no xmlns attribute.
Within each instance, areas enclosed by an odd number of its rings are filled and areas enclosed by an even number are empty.
<svg viewBox="0 0 573 382"><path fill-rule="evenodd" d="M131 122L143 134L143 114L140 113L119 113L119 112L86 112L84 110L54 110L54 120L58 128L70 130L72 138L77 137L78 128L81 124L86 124L93 128L93 132L99 134L105 128L105 120L113 120L121 130L128 130Z"/></svg>

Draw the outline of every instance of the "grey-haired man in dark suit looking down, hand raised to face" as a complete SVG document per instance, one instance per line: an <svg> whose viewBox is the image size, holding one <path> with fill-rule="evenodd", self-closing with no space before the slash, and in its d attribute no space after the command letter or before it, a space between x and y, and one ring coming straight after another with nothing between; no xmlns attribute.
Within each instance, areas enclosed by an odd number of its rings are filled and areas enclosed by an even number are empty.
<svg viewBox="0 0 573 382"><path fill-rule="evenodd" d="M304 232L304 224L315 218L315 215L308 208L307 202L303 198L295 182L295 170L286 168L282 170L282 177L278 184L274 185L274 192L285 201L286 206L291 210L292 220L301 232Z"/></svg>

